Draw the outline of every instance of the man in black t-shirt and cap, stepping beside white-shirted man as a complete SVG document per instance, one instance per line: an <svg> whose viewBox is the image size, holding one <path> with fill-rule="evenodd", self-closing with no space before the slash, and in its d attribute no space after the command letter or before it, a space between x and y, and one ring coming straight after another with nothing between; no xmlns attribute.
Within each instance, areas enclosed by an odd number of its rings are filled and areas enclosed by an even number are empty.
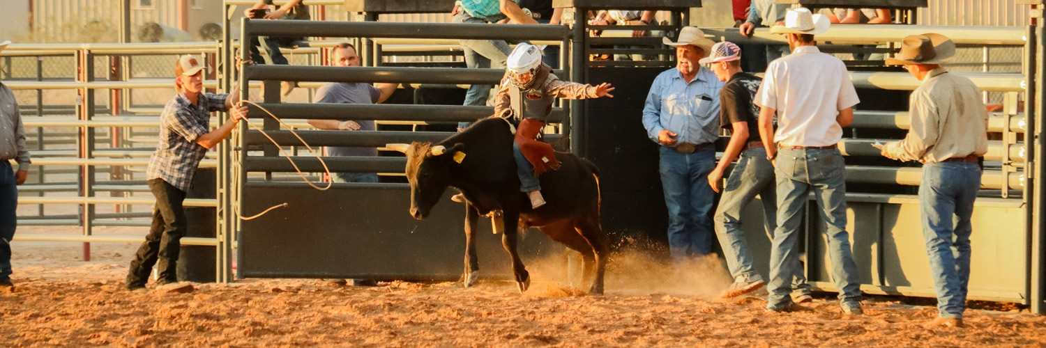
<svg viewBox="0 0 1046 348"><path fill-rule="evenodd" d="M722 297L733 298L755 292L766 283L752 266L745 232L741 229L741 211L758 194L763 201L767 235L772 235L777 227L774 166L767 159L766 149L758 137L759 107L752 103L752 97L763 79L741 70L741 48L731 42L715 44L711 48L711 54L700 62L710 64L715 76L726 82L720 91L720 125L732 132L723 158L708 175L708 185L712 190L721 190L723 172L730 162L737 159L726 187L722 188L723 196L714 218L715 234L730 275L734 278L733 284ZM794 279L793 288L796 289L793 295L796 302L813 300L810 285L801 275Z"/></svg>

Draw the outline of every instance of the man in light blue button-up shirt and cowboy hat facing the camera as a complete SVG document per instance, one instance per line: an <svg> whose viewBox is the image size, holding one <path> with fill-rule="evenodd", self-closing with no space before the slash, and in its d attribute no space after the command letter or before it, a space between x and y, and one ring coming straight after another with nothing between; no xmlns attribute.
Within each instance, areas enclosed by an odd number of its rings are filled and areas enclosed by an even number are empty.
<svg viewBox="0 0 1046 348"><path fill-rule="evenodd" d="M643 107L643 127L661 145L660 172L668 208L668 247L677 264L688 257L711 253L715 193L708 173L715 166L719 138L719 91L723 83L698 60L714 44L692 26L679 32L676 68L654 79Z"/></svg>

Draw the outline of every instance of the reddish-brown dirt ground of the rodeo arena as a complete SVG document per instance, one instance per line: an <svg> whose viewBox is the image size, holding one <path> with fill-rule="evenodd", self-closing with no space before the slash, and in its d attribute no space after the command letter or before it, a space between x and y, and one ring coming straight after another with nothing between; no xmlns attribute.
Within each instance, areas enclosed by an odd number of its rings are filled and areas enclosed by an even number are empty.
<svg viewBox="0 0 1046 348"><path fill-rule="evenodd" d="M887 297L865 299L863 317L844 316L829 295L799 312L766 314L759 298L715 300L729 282L718 260L681 277L619 257L601 297L582 296L542 262L529 265L525 295L482 280L464 288L316 279L131 294L122 279L136 246L95 243L88 262L79 243L13 247L16 291L0 294L0 337L10 347L1046 346L1046 317L1007 305L969 310L963 329L924 328L932 301Z"/></svg>

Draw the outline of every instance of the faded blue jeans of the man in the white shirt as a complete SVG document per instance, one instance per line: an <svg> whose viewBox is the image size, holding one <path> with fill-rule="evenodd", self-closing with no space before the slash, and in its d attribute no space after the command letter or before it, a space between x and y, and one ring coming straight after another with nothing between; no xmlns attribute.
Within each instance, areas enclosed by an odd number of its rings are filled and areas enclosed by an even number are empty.
<svg viewBox="0 0 1046 348"><path fill-rule="evenodd" d="M827 225L832 278L844 308L861 306L861 284L846 232L846 163L839 149L791 149L777 152L777 231L770 253L770 297L767 308L792 304L791 280L802 274L796 239L803 207L814 192L821 218ZM786 280L787 279L787 280Z"/></svg>

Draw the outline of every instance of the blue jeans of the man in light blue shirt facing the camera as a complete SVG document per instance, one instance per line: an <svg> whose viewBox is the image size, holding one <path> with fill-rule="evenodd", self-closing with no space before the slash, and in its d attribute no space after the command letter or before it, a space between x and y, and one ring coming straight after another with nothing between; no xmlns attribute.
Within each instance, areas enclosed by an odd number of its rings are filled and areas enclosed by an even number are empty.
<svg viewBox="0 0 1046 348"><path fill-rule="evenodd" d="M715 168L715 146L705 146L692 154L673 147L660 149L661 186L668 208L668 249L673 261L711 253L712 199L708 173Z"/></svg>

